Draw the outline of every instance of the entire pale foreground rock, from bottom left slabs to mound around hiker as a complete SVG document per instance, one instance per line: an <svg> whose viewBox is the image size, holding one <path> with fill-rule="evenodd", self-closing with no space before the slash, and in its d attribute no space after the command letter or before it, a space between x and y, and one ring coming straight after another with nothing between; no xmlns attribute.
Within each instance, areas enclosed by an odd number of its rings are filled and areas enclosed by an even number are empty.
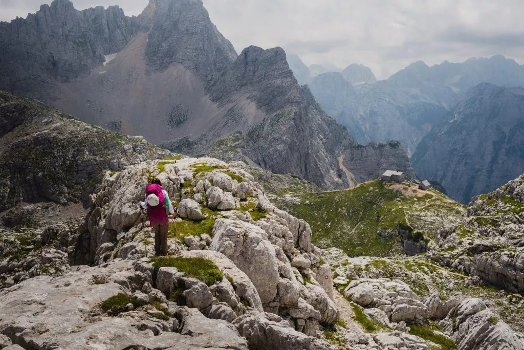
<svg viewBox="0 0 524 350"><path fill-rule="evenodd" d="M174 259L212 261L224 277L206 285L181 267L144 258L152 255L151 231L147 222L141 224L136 203L151 176L180 202L183 219L169 239L170 253L179 256ZM195 234L203 225L210 231ZM29 230L20 239L14 231L3 232L3 286L16 283L2 291L0 308L5 313L0 331L10 342L33 348L178 343L193 348L211 344L211 332L219 332L213 338L217 348L332 348L315 339L319 323L336 322L339 311L330 299L331 270L311 244L309 225L272 206L241 169L211 158L184 158L106 173L85 223L70 229ZM25 254L11 249L19 244ZM86 263L94 266L73 266ZM47 286L39 289L47 296L43 301L29 297L36 285ZM129 305L103 311L104 300L123 293L133 297ZM180 293L183 299L174 297ZM27 319L31 309L40 311ZM62 322L74 333L59 327ZM119 336L110 337L116 330Z"/></svg>

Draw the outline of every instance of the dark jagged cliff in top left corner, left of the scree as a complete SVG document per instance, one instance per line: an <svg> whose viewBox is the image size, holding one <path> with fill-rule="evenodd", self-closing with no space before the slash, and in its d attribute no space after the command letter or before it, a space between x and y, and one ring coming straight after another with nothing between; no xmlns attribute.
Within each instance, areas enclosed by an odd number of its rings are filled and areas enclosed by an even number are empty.
<svg viewBox="0 0 524 350"><path fill-rule="evenodd" d="M72 82L122 50L136 21L118 6L83 11L69 0L42 5L36 14L0 23L0 89L43 101L59 98L57 82Z"/></svg>

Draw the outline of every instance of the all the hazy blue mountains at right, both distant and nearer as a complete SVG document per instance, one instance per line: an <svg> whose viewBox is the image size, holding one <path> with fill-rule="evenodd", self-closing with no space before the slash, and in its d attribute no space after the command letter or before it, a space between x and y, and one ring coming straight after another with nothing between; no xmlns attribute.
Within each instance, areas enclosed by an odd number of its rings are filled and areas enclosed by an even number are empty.
<svg viewBox="0 0 524 350"><path fill-rule="evenodd" d="M504 89L524 87L514 60L419 61L376 81L357 64L313 76L290 57L297 79L358 142L399 140L418 176L440 181L456 200L467 203L524 171L520 90Z"/></svg>

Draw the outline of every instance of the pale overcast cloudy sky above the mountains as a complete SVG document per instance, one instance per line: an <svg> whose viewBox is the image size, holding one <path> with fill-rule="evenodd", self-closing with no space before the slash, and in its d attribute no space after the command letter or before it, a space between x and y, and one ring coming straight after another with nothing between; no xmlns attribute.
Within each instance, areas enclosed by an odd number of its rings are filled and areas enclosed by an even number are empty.
<svg viewBox="0 0 524 350"><path fill-rule="evenodd" d="M0 0L0 20L26 17L50 0ZM138 15L148 0L73 0ZM384 79L423 60L462 62L504 54L524 63L522 0L203 0L238 52L281 46L306 64L368 65Z"/></svg>

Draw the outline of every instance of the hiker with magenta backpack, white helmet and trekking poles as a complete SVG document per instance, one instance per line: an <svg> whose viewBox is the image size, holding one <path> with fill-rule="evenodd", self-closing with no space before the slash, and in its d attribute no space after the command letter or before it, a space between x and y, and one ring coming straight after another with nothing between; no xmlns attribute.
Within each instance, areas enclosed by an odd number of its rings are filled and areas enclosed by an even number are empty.
<svg viewBox="0 0 524 350"><path fill-rule="evenodd" d="M151 228L155 232L155 256L167 256L167 235L169 214L174 215L169 194L162 189L162 183L155 178L146 187L144 202L140 206L147 210Z"/></svg>

